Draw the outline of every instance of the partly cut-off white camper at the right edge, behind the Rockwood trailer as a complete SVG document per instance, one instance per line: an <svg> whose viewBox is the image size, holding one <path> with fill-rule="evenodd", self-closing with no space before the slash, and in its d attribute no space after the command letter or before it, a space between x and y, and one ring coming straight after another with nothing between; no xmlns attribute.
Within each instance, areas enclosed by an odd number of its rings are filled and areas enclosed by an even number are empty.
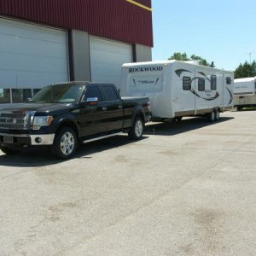
<svg viewBox="0 0 256 256"><path fill-rule="evenodd" d="M256 77L235 79L234 107L241 110L244 107L256 106Z"/></svg>

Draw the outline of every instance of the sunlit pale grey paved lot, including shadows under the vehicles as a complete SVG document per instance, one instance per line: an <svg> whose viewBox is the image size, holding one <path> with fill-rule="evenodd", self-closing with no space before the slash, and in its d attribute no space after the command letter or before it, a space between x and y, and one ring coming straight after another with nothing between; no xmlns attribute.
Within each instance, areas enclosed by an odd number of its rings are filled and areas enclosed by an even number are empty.
<svg viewBox="0 0 256 256"><path fill-rule="evenodd" d="M256 112L0 153L1 255L255 255Z"/></svg>

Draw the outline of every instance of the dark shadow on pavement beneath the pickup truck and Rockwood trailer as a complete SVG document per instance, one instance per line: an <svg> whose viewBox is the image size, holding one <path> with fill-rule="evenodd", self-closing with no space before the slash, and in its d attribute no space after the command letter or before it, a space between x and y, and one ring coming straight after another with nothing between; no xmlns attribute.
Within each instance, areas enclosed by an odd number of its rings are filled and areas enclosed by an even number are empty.
<svg viewBox="0 0 256 256"><path fill-rule="evenodd" d="M229 121L229 117L219 119L218 123ZM193 131L209 125L206 118L196 117L183 119L181 122L166 122L166 123L148 123L145 128L143 139L147 139L147 135L174 136L183 132ZM92 158L91 154L103 152L111 148L118 148L136 141L130 140L128 136L109 137L93 143L80 145L73 159L88 159ZM71 160L73 160L71 159ZM56 160L49 152L49 148L32 148L25 149L19 154L0 155L0 166L17 166L17 167L36 167L36 166L51 166L64 162L65 160Z"/></svg>

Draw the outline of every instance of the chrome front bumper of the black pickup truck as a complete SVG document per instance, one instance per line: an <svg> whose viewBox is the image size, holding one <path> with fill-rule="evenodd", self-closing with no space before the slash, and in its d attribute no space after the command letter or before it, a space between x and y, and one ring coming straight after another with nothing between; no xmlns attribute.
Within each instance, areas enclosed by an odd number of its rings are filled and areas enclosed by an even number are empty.
<svg viewBox="0 0 256 256"><path fill-rule="evenodd" d="M0 133L1 145L12 146L47 146L54 143L55 134L7 134Z"/></svg>

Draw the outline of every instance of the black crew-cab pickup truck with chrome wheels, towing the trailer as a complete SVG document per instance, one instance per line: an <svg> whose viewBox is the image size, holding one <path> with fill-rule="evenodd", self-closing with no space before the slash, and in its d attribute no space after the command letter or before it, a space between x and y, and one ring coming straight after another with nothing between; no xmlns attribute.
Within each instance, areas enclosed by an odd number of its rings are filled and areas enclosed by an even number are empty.
<svg viewBox="0 0 256 256"><path fill-rule="evenodd" d="M48 146L68 159L79 143L128 132L140 139L149 119L148 97L119 96L113 84L69 82L40 90L29 102L0 110L0 149Z"/></svg>

